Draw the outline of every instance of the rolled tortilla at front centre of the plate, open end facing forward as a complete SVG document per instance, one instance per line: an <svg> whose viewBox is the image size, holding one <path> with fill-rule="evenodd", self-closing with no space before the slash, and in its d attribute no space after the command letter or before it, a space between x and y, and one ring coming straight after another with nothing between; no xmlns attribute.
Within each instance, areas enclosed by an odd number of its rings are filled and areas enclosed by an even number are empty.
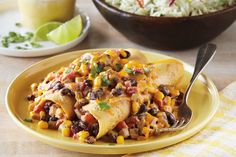
<svg viewBox="0 0 236 157"><path fill-rule="evenodd" d="M97 139L114 129L120 121L125 120L130 114L130 99L127 97L111 98L109 105L110 109L101 110L96 101L94 101L83 107L83 109L91 113L99 123Z"/></svg>

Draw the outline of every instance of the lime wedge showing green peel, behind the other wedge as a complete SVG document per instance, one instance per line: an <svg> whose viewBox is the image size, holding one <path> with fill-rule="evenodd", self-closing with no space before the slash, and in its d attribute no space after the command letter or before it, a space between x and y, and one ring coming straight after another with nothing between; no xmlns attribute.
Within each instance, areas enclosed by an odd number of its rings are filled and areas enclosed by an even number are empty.
<svg viewBox="0 0 236 157"><path fill-rule="evenodd" d="M59 27L62 23L60 22L48 22L37 28L36 32L34 33L33 40L34 41L47 41L48 37L47 34L52 30Z"/></svg>

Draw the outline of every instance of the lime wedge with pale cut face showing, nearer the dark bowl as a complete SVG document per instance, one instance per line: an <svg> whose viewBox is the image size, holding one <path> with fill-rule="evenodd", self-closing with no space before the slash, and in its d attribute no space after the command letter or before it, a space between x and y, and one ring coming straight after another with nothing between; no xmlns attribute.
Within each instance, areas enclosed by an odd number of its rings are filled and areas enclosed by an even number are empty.
<svg viewBox="0 0 236 157"><path fill-rule="evenodd" d="M78 15L47 34L49 40L56 44L65 44L76 39L82 32L83 24Z"/></svg>

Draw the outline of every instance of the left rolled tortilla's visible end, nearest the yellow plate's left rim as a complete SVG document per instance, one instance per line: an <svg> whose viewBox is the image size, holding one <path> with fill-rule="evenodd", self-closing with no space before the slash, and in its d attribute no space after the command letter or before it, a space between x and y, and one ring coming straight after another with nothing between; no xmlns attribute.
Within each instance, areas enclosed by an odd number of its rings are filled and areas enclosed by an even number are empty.
<svg viewBox="0 0 236 157"><path fill-rule="evenodd" d="M75 98L68 95L63 96L60 91L55 91L54 93L45 94L44 99L59 105L65 112L67 119L71 119L74 116Z"/></svg>

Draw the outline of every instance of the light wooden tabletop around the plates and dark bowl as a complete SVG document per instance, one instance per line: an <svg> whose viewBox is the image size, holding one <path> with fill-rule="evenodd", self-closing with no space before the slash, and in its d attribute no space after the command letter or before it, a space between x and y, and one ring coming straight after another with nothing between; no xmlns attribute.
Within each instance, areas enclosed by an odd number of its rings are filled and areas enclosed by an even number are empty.
<svg viewBox="0 0 236 157"><path fill-rule="evenodd" d="M1 1L1 0L0 0ZM142 47L128 41L113 27L111 27L98 13L91 1L78 0L80 8L86 11L92 20L92 28L88 37L72 50L90 48L124 47L150 50L179 58L194 64L197 49L168 52ZM214 60L204 71L220 90L236 80L236 23L212 42L218 46ZM71 50L68 50L71 51ZM60 150L43 144L23 130L19 129L7 114L4 102L6 89L14 77L31 64L43 60L41 58L12 58L0 56L0 156L101 156L75 153ZM104 155L102 155L104 156Z"/></svg>

